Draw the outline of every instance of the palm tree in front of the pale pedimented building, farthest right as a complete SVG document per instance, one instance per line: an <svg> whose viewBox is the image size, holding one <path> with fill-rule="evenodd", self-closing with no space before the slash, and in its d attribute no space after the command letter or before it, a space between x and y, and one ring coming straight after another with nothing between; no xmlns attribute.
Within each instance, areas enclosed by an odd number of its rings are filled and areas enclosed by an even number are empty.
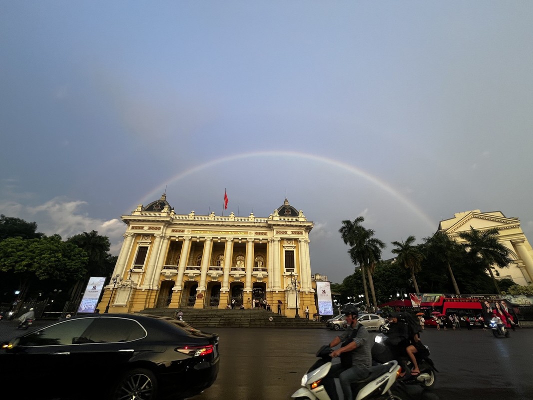
<svg viewBox="0 0 533 400"><path fill-rule="evenodd" d="M511 254L510 250L498 242L496 238L498 235L498 228L479 231L470 226L469 231L459 232L459 237L466 241L466 243L462 243L463 247L465 247L470 255L481 261L483 267L489 271L496 291L499 295L502 295L494 273L492 273L492 265L505 268L513 260L509 257L509 254Z"/></svg>

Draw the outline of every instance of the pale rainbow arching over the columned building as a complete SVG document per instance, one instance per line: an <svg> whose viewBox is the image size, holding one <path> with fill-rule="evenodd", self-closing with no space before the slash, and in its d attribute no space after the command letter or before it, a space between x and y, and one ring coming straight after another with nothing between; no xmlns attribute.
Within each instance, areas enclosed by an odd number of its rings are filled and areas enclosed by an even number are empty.
<svg viewBox="0 0 533 400"><path fill-rule="evenodd" d="M173 177L165 180L164 181L165 183L160 183L155 188L151 189L149 193L141 197L141 201L139 203L136 203L135 206L132 207L132 210L135 209L137 204L151 203L152 201L154 201L154 199L159 198L161 193L163 193L163 191L165 190L165 186L167 184L172 184L176 181L179 181L180 179L183 179L184 177L187 177L188 175L192 175L192 174L207 170L216 165L231 162L231 161L236 161L236 160L241 160L241 159L246 159L246 158L254 158L254 157L280 157L280 156L303 158L308 161L314 161L318 163L327 164L327 165L342 169L358 177L361 177L367 180L368 182L372 183L379 189L382 189L383 191L385 191L385 193L394 197L399 203L406 206L407 209L409 209L411 212L416 214L418 218L423 220L424 223L426 223L427 226L431 230L435 229L435 222L420 207L418 207L416 204L411 202L408 198L406 198L401 193L399 193L398 190L394 189L391 185L389 185L389 183L383 181L382 179L379 179L375 177L374 175L369 174L368 172L361 170L357 167L354 167L353 165L350 165L348 163L343 163L335 159L331 159L331 158L327 158L323 156L317 156L314 154L298 153L296 151L256 151L254 153L235 154L231 156L217 158L212 161L208 161L204 164L191 167L190 169L182 171L174 175Z"/></svg>

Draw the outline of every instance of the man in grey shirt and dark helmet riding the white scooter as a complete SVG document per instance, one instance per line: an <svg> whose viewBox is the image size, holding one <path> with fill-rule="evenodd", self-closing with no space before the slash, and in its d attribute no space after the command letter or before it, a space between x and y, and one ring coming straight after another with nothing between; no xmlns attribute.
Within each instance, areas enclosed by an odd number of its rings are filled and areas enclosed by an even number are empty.
<svg viewBox="0 0 533 400"><path fill-rule="evenodd" d="M341 345L340 348L330 354L332 358L340 357L341 362L332 365L327 378L338 378L341 383L344 400L352 400L351 384L368 377L370 366L372 366L370 335L366 328L357 321L357 308L348 306L342 313L346 315L345 322L348 326L345 331L329 343L331 348ZM334 380L327 379L326 381L327 392L332 400L337 400L337 391L335 386L332 385Z"/></svg>

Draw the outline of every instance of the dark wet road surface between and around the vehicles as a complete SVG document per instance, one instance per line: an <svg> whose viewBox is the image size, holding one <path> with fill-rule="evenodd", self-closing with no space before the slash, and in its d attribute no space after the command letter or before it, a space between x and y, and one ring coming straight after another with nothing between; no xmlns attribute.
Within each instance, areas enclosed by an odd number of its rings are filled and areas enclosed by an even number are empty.
<svg viewBox="0 0 533 400"><path fill-rule="evenodd" d="M23 334L17 324L1 321L0 340ZM317 349L337 334L326 328L204 330L219 334L220 372L212 387L191 400L288 400ZM441 400L533 398L533 329L521 328L510 338L494 338L481 329L426 329L422 341L440 371L432 391Z"/></svg>

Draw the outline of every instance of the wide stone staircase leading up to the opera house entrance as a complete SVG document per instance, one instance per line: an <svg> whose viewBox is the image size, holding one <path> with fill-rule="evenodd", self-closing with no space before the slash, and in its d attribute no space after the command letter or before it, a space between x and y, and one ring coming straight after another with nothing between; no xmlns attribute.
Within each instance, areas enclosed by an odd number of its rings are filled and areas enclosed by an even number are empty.
<svg viewBox="0 0 533 400"><path fill-rule="evenodd" d="M174 316L175 309L146 308L140 313ZM287 318L263 309L193 309L185 308L183 321L196 328L232 327L232 328L325 328L324 322L305 318ZM270 321L272 318L272 321Z"/></svg>

